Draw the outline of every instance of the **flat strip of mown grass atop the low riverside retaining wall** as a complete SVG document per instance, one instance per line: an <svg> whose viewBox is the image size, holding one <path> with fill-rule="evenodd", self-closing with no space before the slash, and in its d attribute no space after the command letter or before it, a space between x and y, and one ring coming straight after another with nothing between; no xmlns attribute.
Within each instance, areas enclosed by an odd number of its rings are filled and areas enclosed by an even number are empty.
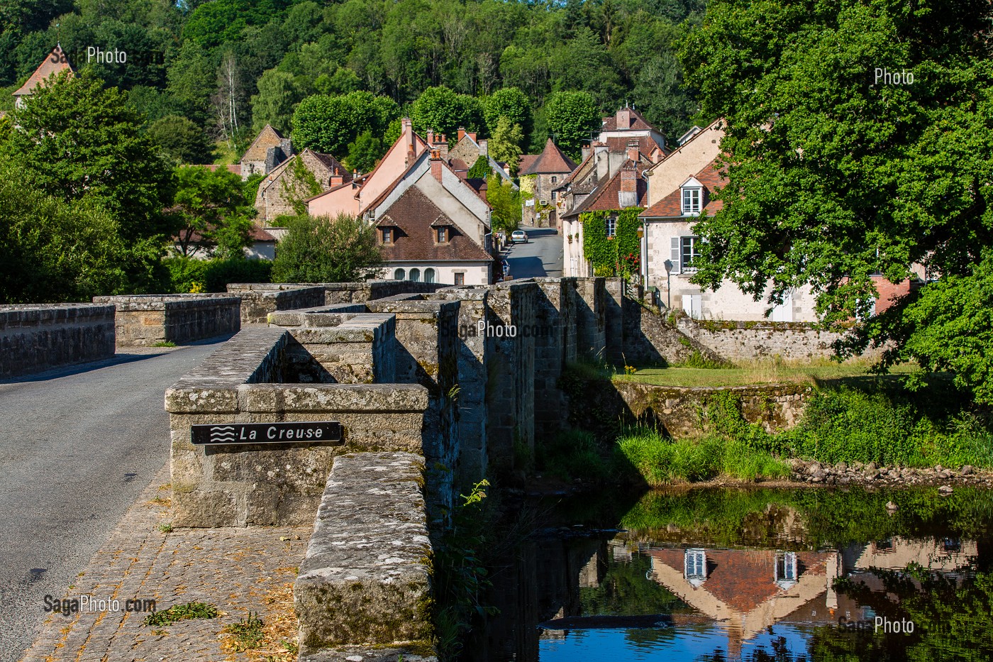
<svg viewBox="0 0 993 662"><path fill-rule="evenodd" d="M814 361L810 363L784 363L757 361L732 368L644 368L634 375L617 375L618 382L638 382L664 387L738 387L758 384L810 384L872 381L876 377L867 371L865 361L836 363ZM914 366L897 366L895 375L910 374ZM894 378L891 378L894 379Z"/></svg>

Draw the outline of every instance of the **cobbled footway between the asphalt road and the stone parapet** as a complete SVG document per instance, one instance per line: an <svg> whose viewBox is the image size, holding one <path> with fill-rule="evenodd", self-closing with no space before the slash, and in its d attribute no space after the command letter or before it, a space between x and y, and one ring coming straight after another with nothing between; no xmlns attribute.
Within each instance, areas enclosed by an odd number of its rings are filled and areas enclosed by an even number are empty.
<svg viewBox="0 0 993 662"><path fill-rule="evenodd" d="M164 467L127 511L103 548L64 597L117 599L120 611L53 613L22 662L222 662L242 659L221 651L221 630L248 615L274 609L270 593L285 594L303 560L311 527L182 529L169 521L169 468ZM145 613L124 610L127 598L152 598L159 610L207 602L213 619L143 625ZM269 598L269 599L267 599ZM282 615L285 616L285 613Z"/></svg>

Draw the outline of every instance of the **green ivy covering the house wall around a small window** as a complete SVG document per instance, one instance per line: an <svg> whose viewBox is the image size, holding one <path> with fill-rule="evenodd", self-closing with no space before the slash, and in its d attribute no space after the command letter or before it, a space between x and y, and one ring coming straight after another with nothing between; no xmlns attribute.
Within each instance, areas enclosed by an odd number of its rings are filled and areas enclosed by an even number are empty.
<svg viewBox="0 0 993 662"><path fill-rule="evenodd" d="M583 251L593 263L593 273L598 276L630 278L638 272L641 254L638 227L641 222L640 207L607 212L586 212L580 215L583 224ZM607 236L607 221L617 219L614 237Z"/></svg>

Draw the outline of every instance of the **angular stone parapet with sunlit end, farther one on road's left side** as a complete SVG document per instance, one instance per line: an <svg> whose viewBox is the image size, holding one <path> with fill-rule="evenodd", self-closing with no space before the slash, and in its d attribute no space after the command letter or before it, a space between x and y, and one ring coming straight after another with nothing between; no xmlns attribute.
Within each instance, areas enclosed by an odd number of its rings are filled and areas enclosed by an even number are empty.
<svg viewBox="0 0 993 662"><path fill-rule="evenodd" d="M235 333L241 328L241 299L224 294L141 294L94 296L116 307L117 344L150 347Z"/></svg>

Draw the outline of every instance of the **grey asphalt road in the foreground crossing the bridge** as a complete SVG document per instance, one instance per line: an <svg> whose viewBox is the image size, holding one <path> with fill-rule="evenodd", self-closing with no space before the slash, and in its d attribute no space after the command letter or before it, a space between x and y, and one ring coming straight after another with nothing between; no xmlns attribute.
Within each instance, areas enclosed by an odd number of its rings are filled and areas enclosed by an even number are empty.
<svg viewBox="0 0 993 662"><path fill-rule="evenodd" d="M165 390L216 342L0 383L0 662L14 662L169 457ZM102 596L105 597L105 596Z"/></svg>

